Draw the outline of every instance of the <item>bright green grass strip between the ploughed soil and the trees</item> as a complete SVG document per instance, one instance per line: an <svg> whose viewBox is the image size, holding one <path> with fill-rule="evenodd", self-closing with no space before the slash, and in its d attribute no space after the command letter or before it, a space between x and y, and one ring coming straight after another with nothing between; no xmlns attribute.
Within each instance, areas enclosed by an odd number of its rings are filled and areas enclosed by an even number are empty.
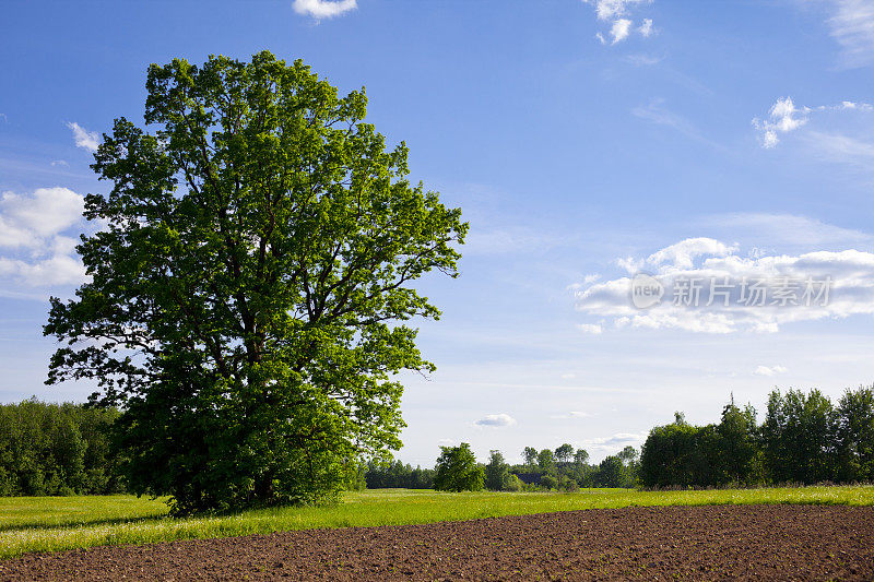
<svg viewBox="0 0 874 582"><path fill-rule="evenodd" d="M107 544L265 534L314 527L401 525L629 506L829 503L874 506L874 486L576 494L350 492L323 508L283 508L220 518L172 519L161 500L132 496L0 498L0 558Z"/></svg>

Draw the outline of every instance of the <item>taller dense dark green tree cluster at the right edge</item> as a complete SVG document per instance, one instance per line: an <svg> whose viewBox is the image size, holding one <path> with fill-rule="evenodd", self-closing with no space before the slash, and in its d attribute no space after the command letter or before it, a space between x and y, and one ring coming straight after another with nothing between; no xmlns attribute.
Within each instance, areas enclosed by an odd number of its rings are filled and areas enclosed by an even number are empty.
<svg viewBox="0 0 874 582"><path fill-rule="evenodd" d="M874 387L837 404L818 390L773 390L764 421L732 399L719 424L681 413L653 428L640 455L643 487L857 483L874 480Z"/></svg>

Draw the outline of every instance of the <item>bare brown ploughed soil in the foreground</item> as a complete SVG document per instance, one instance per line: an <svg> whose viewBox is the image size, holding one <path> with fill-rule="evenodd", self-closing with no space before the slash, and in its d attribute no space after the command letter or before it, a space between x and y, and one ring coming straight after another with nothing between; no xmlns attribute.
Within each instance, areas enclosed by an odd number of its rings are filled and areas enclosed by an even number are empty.
<svg viewBox="0 0 874 582"><path fill-rule="evenodd" d="M874 508L625 508L105 546L2 580L874 580Z"/></svg>

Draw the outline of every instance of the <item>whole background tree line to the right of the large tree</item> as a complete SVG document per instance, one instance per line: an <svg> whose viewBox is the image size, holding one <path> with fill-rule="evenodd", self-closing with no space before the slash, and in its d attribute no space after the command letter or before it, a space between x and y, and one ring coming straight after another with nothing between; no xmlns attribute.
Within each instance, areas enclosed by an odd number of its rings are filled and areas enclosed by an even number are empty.
<svg viewBox="0 0 874 582"><path fill-rule="evenodd" d="M492 450L483 464L468 443L441 447L433 486L448 491L574 491L872 482L874 387L847 390L837 404L819 390L773 390L760 425L756 409L748 404L741 408L733 397L718 424L690 425L683 413L675 413L673 423L650 431L639 459L634 447L626 447L589 464L589 453L569 443L555 450L525 447L522 459L511 465ZM411 471L408 465L406 473ZM377 483L369 473L367 480L368 487Z"/></svg>

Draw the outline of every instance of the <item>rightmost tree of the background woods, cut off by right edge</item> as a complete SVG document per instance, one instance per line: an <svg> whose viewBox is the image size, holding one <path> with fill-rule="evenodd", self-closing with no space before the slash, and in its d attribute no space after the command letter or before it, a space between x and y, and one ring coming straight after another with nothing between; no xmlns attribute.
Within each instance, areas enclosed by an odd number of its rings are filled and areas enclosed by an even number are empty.
<svg viewBox="0 0 874 582"><path fill-rule="evenodd" d="M874 387L847 390L837 417L840 480L874 480Z"/></svg>

